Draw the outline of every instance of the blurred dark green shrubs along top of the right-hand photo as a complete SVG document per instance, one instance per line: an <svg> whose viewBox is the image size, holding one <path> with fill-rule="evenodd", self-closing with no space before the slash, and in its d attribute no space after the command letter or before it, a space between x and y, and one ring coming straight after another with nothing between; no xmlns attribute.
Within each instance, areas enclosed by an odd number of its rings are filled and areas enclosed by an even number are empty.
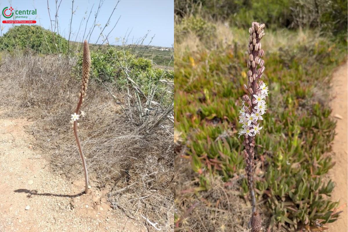
<svg viewBox="0 0 348 232"><path fill-rule="evenodd" d="M177 0L174 12L183 18L204 15L245 28L257 21L272 29L316 27L337 34L347 33L347 6L347 0Z"/></svg>

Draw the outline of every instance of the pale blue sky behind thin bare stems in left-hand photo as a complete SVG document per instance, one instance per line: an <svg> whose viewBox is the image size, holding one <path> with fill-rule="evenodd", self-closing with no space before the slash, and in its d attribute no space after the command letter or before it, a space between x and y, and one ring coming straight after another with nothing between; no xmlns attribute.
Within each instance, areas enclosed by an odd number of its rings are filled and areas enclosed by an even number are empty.
<svg viewBox="0 0 348 232"><path fill-rule="evenodd" d="M58 0L58 3L61 0ZM51 18L54 19L54 14L56 10L55 0L48 0L50 7ZM116 0L104 0L103 5L100 8L100 13L96 19L96 24L101 24L101 29L104 27L105 23L108 21L114 6L116 5ZM94 4L94 6L93 6ZM71 40L82 40L82 35L84 34L86 21L89 12L93 6L92 14L90 15L87 32L89 28L92 27L94 23L94 14L97 11L99 0L74 0L74 10L73 20L71 24L72 34L70 36ZM37 16L29 15L27 19L21 20L36 20L36 25L41 25L46 29L50 29L50 20L47 10L47 0L10 0L1 1L0 10L4 7L14 8L15 10L33 10L37 9ZM58 11L58 23L60 34L68 38L69 36L69 24L71 18L71 0L62 0L59 11ZM1 14L1 13L0 13ZM78 33L78 29L83 17L86 17L85 21L81 24L81 29ZM114 24L120 17L116 27L109 35L109 42L111 44L120 45L121 41L115 40L115 38L123 38L130 32L128 36L127 43L135 43L135 41L144 37L145 34L149 32L148 37L144 40L144 44L147 45L151 37L155 35L152 39L150 45L152 46L165 46L171 47L174 43L174 0L121 0L118 3L114 14L110 19L110 25L105 28L103 34L108 34ZM10 18L12 19L12 18ZM10 20L1 17L1 26L3 27L2 34L8 31L12 24L3 24L3 20ZM53 22L54 24L54 22ZM16 24L20 25L20 24ZM98 36L101 29L95 27L90 41L91 43L97 42ZM86 37L86 36L85 36ZM98 40L98 43L102 42L102 38Z"/></svg>

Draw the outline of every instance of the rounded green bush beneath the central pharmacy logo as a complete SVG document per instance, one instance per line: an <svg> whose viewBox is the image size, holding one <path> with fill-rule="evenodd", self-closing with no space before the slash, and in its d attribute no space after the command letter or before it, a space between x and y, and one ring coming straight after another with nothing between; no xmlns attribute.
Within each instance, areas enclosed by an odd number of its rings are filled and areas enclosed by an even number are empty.
<svg viewBox="0 0 348 232"><path fill-rule="evenodd" d="M38 25L20 25L11 27L0 37L2 49L32 49L38 53L65 53L68 41Z"/></svg>

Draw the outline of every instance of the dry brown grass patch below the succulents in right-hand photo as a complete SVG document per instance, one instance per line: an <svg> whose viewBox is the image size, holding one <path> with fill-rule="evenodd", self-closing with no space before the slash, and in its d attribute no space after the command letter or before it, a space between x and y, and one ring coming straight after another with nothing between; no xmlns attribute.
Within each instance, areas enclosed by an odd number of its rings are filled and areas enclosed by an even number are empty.
<svg viewBox="0 0 348 232"><path fill-rule="evenodd" d="M199 187L199 177L190 161L177 155L175 158L175 209L179 223L174 231L246 232L251 206L239 197L243 177L224 183L220 177L207 176L212 186L207 191L193 191ZM269 223L269 215L262 215L263 227ZM282 231L282 230L277 230Z"/></svg>

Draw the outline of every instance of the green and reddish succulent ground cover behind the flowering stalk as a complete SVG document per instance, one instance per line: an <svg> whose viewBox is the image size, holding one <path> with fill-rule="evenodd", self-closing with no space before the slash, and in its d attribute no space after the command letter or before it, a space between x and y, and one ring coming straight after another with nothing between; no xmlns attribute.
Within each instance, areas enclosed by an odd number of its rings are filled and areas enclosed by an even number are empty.
<svg viewBox="0 0 348 232"><path fill-rule="evenodd" d="M228 181L245 174L243 139L237 131L245 94L248 35L247 30L230 28L231 34L238 36L230 38L229 45L207 45L203 34L182 31L188 20L192 18L176 24L182 37L176 38L175 50L175 129L181 133L192 169L199 174L197 190L209 190L214 187L206 178L209 175ZM199 23L199 27L214 28L209 24ZM346 41L318 37L291 41L300 33L266 30L263 41L285 42L263 46L268 111L255 149L257 200L264 200L264 211L270 211L270 226L291 231L323 229L338 217L335 209L339 203L330 200L334 184L325 175L334 166L330 143L335 121L329 116L328 90L333 69L347 54ZM305 34L308 37L312 32ZM191 49L180 45L195 36L205 41L204 46ZM219 35L215 34L216 38ZM246 179L239 191L247 200Z"/></svg>

